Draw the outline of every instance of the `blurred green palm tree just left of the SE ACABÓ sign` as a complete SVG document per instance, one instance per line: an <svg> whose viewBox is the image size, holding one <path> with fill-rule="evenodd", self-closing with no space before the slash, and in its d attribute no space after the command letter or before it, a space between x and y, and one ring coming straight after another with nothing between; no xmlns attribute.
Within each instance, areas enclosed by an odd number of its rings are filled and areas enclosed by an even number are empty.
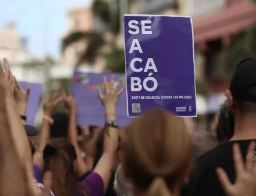
<svg viewBox="0 0 256 196"><path fill-rule="evenodd" d="M114 0L113 3L110 4L102 0L95 0L92 5L92 11L95 17L105 24L107 31L112 34L112 38L109 41L111 52L106 55L106 57L112 62L110 69L115 72L124 72L124 51L122 49L118 49L116 46L116 37L120 32L119 1L121 0ZM129 0L129 3L132 1L134 0ZM99 50L108 42L100 32L74 32L62 40L62 52L64 52L72 43L82 39L87 39L89 44L83 54L79 56L75 69L77 69L82 62L88 62L90 64L93 63L99 53ZM116 57L119 59L118 63L113 60L113 58L116 59ZM123 66L121 66L123 67L123 70L120 70L121 63L123 64Z"/></svg>

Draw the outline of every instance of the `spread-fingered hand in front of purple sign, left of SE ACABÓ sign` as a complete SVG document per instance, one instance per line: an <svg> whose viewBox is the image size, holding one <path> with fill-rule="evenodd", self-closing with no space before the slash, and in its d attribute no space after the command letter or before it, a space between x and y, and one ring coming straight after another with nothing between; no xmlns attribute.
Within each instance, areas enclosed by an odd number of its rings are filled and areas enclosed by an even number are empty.
<svg viewBox="0 0 256 196"><path fill-rule="evenodd" d="M110 82L106 81L106 77L103 77L103 85L104 85L104 95L101 92L100 86L98 85L98 94L100 101L105 107L108 106L116 106L117 100L119 96L124 91L125 87L118 91L120 86L120 80L118 80L116 87L114 88L114 79L115 75L111 77Z"/></svg>

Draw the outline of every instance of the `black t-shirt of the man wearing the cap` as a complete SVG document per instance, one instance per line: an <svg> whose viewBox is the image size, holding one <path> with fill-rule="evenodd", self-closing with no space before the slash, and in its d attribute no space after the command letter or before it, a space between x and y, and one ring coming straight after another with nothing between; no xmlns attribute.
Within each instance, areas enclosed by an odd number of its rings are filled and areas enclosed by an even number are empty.
<svg viewBox="0 0 256 196"><path fill-rule="evenodd" d="M245 159L249 143L253 140L229 141L208 151L196 159L189 182L184 185L181 196L226 196L219 183L216 168L222 167L231 183L235 181L232 145L238 143Z"/></svg>

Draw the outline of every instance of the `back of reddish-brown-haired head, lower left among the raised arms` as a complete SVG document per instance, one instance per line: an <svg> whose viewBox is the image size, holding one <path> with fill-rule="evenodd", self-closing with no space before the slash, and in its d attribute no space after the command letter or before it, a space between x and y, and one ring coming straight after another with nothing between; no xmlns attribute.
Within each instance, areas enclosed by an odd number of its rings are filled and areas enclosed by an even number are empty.
<svg viewBox="0 0 256 196"><path fill-rule="evenodd" d="M53 173L51 189L55 196L74 195L78 188L77 177L74 170L75 160L75 148L65 138L52 139L45 147L45 171L49 170Z"/></svg>

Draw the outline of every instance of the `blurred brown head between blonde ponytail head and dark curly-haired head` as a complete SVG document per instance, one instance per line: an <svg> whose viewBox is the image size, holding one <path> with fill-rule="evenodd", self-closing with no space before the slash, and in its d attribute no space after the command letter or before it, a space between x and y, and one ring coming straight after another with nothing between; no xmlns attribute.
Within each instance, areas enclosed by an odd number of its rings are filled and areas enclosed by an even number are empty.
<svg viewBox="0 0 256 196"><path fill-rule="evenodd" d="M209 132L196 131L191 136L194 158L197 158L207 151L215 148L218 144L217 139Z"/></svg>

